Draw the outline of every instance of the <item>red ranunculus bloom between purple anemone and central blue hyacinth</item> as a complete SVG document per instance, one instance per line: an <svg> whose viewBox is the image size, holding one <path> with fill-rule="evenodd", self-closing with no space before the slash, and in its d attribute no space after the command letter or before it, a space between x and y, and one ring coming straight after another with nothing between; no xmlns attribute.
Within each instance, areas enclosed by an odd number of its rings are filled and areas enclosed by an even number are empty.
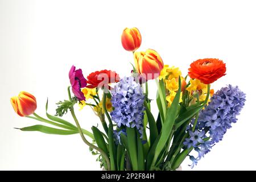
<svg viewBox="0 0 256 182"><path fill-rule="evenodd" d="M119 75L110 70L102 70L90 73L87 77L87 88L102 88L108 86L110 83L118 82Z"/></svg>

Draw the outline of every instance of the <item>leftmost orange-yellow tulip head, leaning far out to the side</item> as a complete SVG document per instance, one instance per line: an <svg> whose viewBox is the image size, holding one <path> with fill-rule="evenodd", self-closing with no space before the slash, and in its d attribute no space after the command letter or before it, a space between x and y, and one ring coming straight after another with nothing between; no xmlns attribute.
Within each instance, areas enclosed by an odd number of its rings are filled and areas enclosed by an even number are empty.
<svg viewBox="0 0 256 182"><path fill-rule="evenodd" d="M11 97L14 111L21 117L28 116L36 110L36 98L27 92L20 92L18 96Z"/></svg>

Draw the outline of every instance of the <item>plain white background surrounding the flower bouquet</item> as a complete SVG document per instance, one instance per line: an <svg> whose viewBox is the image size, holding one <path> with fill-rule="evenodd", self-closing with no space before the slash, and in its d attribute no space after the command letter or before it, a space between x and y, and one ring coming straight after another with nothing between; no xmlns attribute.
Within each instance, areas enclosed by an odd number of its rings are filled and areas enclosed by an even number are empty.
<svg viewBox="0 0 256 182"><path fill-rule="evenodd" d="M98 170L79 135L59 136L13 129L40 123L16 115L10 97L34 94L44 115L67 98L71 65L84 75L112 69L129 76L133 57L121 46L125 27L138 27L139 50L153 48L183 75L192 61L224 60L227 75L212 86L238 85L247 94L238 122L193 170L256 169L255 1L0 1L0 169ZM155 82L150 96L155 98ZM155 107L156 108L156 107ZM155 109L156 110L156 109ZM98 118L76 111L90 130ZM156 114L156 113L155 113ZM71 120L69 114L65 118ZM184 170L191 162L185 160Z"/></svg>

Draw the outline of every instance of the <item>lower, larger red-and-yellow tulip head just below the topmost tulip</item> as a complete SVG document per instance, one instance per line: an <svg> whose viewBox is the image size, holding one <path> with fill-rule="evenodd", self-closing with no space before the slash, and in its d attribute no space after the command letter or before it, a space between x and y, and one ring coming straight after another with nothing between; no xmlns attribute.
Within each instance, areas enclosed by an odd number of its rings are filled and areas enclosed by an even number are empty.
<svg viewBox="0 0 256 182"><path fill-rule="evenodd" d="M146 80L157 78L164 67L162 58L153 49L147 49L146 52L135 52L134 61L137 72Z"/></svg>

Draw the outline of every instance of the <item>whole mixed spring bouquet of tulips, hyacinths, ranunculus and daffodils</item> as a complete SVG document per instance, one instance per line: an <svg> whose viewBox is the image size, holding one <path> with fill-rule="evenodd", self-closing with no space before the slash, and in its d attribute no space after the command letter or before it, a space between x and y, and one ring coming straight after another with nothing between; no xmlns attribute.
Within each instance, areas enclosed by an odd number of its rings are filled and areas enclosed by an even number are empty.
<svg viewBox="0 0 256 182"><path fill-rule="evenodd" d="M48 113L48 101L46 118L36 114L36 98L30 93L20 92L11 98L18 115L53 125L20 130L80 134L106 170L176 170L187 157L192 160L191 167L195 166L237 122L245 94L232 85L216 93L210 89L212 82L225 75L222 60L196 60L183 77L179 68L164 65L153 49L136 51L142 42L137 28L125 28L121 42L134 56L130 76L120 78L113 71L102 70L85 78L81 69L72 66L68 100L57 102L55 115ZM149 80L156 81L156 98L148 97ZM92 109L101 125L92 126L92 131L82 129L75 115L76 104L80 109ZM158 106L158 115L151 113L152 104ZM68 112L75 124L63 119Z"/></svg>

